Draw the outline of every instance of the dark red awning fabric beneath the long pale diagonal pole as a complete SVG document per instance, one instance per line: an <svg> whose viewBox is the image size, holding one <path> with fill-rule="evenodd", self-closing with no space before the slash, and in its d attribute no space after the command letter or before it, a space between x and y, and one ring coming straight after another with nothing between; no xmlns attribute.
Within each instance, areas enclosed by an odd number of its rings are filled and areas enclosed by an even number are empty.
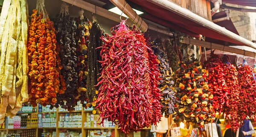
<svg viewBox="0 0 256 137"><path fill-rule="evenodd" d="M160 25L173 28L177 31L186 33L190 36L192 32L193 34L201 34L211 39L217 39L218 41L233 43L231 45L244 45L241 42L238 42L234 39L230 39L227 36L218 34L216 31L213 31L203 25L193 22L185 17L182 17L179 14L168 11L160 6L155 5L154 3L148 2L147 0L130 0L130 1L133 3L136 3L137 5L142 6L143 10L145 10L148 14L150 14L150 15L146 15L145 18L152 22L156 22ZM168 24L172 26L169 26ZM180 28L182 28L186 32L181 31Z"/></svg>

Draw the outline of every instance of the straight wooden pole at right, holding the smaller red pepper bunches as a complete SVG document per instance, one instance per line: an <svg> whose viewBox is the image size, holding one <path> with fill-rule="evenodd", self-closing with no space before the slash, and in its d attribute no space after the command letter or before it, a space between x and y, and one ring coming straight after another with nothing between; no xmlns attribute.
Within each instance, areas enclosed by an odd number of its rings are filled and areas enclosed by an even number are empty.
<svg viewBox="0 0 256 137"><path fill-rule="evenodd" d="M210 48L210 49L216 49L216 50L221 50L221 51L224 50L226 52L250 56L253 58L256 56L255 52L241 50L238 48L232 48L232 47L219 45L219 44L215 44L215 43L211 43L211 42L205 42L205 41L201 41L201 40L197 40L197 39L190 39L190 38L183 37L183 36L180 37L180 42L186 43L186 44L191 44L191 45L197 45L197 46L201 46L201 47L205 47L205 48Z"/></svg>

